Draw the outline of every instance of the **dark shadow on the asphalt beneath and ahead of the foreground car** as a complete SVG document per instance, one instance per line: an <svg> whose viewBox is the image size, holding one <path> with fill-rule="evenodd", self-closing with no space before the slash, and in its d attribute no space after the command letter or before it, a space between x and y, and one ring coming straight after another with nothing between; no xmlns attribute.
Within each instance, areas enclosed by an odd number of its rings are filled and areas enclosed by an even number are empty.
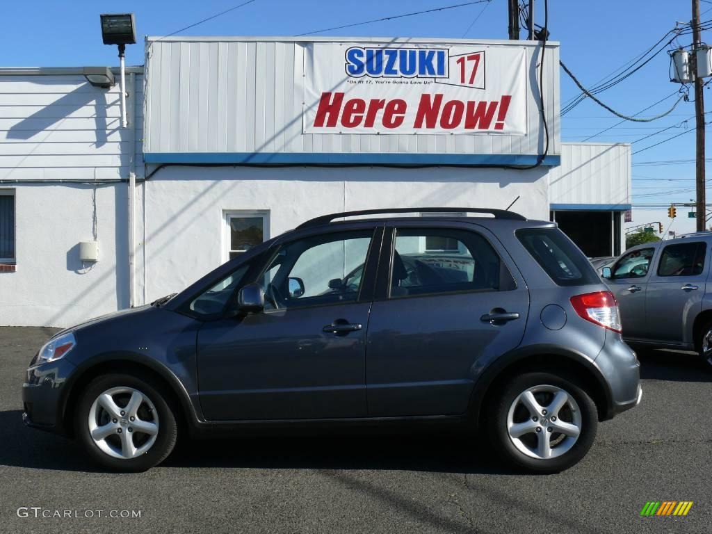
<svg viewBox="0 0 712 534"><path fill-rule="evenodd" d="M29 429L20 410L0 412L0 465L62 471L103 471L78 443ZM397 469L444 473L517 474L493 461L486 446L455 431L402 434L255 436L182 440L162 464L172 468Z"/></svg>

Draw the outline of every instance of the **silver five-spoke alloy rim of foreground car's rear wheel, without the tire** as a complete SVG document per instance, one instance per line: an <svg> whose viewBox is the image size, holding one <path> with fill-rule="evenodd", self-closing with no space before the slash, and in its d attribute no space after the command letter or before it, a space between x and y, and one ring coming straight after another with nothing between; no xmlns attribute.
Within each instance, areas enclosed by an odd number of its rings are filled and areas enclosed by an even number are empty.
<svg viewBox="0 0 712 534"><path fill-rule="evenodd" d="M507 414L507 431L514 446L540 460L570 451L581 428L581 411L574 397L548 384L518 394Z"/></svg>

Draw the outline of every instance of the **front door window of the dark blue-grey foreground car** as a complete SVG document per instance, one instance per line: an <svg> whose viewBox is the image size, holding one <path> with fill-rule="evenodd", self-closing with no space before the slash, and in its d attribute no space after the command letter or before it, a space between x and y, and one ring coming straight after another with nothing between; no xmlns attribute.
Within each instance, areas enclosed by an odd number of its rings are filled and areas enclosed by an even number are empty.
<svg viewBox="0 0 712 534"><path fill-rule="evenodd" d="M282 246L261 276L265 309L355 301L373 232L322 234Z"/></svg>

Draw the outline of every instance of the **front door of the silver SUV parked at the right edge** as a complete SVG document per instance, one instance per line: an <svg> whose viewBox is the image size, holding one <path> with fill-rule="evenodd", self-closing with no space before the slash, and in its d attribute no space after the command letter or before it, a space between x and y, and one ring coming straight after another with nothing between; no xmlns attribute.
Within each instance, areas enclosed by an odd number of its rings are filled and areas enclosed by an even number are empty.
<svg viewBox="0 0 712 534"><path fill-rule="evenodd" d="M626 339L645 339L649 332L645 295L654 253L654 247L636 248L625 253L614 263L610 278L605 280L618 300L623 337Z"/></svg>

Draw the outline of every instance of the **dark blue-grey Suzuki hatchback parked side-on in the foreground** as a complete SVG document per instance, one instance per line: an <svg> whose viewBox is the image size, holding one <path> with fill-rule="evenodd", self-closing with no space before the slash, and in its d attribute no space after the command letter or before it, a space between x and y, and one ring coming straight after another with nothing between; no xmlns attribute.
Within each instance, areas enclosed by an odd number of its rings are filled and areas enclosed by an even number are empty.
<svg viewBox="0 0 712 534"><path fill-rule="evenodd" d="M27 370L26 423L122 471L179 433L414 423L478 431L531 471L572 466L641 397L612 293L554 223L442 211L320 216L59 333ZM388 217L406 212L441 215Z"/></svg>

